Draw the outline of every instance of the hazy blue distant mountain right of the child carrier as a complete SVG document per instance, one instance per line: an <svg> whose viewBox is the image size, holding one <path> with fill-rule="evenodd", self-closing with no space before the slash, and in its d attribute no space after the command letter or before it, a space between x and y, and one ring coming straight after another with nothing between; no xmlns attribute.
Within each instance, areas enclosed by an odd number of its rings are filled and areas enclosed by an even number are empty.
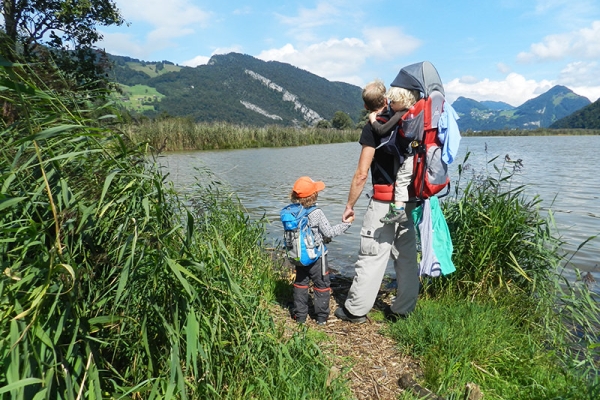
<svg viewBox="0 0 600 400"><path fill-rule="evenodd" d="M590 101L567 87L557 85L519 107L503 104L508 107L500 107L497 102L490 104L459 97L452 107L460 116L461 130L536 129L549 127L589 105Z"/></svg>

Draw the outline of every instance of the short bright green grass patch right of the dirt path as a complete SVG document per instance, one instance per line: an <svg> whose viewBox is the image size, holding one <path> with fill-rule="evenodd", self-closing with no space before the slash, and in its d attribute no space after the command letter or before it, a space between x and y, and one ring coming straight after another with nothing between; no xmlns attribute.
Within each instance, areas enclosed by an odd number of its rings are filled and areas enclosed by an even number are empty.
<svg viewBox="0 0 600 400"><path fill-rule="evenodd" d="M492 302L426 299L388 334L422 360L427 387L446 398L462 398L469 382L489 399L592 398L589 382L562 365L543 335Z"/></svg>

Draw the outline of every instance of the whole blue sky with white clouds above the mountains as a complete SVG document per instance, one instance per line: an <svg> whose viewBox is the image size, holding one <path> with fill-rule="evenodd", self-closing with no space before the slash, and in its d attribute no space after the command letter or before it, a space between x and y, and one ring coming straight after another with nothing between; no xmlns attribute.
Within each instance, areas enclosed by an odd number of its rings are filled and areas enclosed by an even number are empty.
<svg viewBox="0 0 600 400"><path fill-rule="evenodd" d="M108 53L179 65L232 51L358 86L428 60L448 100L519 106L554 85L600 97L597 0L116 0ZM285 82L276 82L285 87Z"/></svg>

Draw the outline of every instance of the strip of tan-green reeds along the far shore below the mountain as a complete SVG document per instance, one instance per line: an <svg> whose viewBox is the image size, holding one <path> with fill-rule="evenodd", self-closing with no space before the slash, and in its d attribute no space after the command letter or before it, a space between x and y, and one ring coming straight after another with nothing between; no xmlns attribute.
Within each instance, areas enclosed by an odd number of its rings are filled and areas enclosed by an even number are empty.
<svg viewBox="0 0 600 400"><path fill-rule="evenodd" d="M358 141L360 130L251 127L224 122L195 123L186 118L144 120L123 126L134 143L148 143L155 149L218 150L256 147L286 147Z"/></svg>

